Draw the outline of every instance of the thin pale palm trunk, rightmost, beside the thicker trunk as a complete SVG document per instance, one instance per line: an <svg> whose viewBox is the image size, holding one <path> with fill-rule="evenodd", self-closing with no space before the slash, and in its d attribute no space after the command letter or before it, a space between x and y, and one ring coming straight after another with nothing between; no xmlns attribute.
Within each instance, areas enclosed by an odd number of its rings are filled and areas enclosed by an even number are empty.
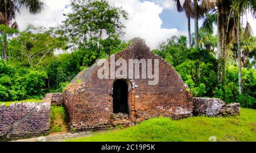
<svg viewBox="0 0 256 153"><path fill-rule="evenodd" d="M237 62L238 62L238 91L242 94L242 68L241 68L241 36L240 36L240 16L237 20Z"/></svg>

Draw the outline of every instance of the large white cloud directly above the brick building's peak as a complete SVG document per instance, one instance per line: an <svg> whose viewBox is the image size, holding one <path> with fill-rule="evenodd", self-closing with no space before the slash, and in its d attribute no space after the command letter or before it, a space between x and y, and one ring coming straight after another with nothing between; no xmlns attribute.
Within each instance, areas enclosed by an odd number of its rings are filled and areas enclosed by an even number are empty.
<svg viewBox="0 0 256 153"><path fill-rule="evenodd" d="M155 49L160 41L165 41L171 36L187 36L187 32L161 28L163 22L159 15L162 13L163 7L156 5L154 2L140 2L138 0L109 1L115 6L122 6L129 13L129 20L124 22L126 25L126 40L142 37L151 49Z"/></svg>

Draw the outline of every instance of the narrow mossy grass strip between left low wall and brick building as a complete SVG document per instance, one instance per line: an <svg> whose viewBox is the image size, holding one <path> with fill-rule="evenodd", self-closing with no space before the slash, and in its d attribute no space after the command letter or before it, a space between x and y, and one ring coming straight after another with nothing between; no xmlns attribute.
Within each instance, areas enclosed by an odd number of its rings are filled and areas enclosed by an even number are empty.
<svg viewBox="0 0 256 153"><path fill-rule="evenodd" d="M50 134L67 133L68 128L65 122L66 112L64 107L51 107L51 129Z"/></svg>

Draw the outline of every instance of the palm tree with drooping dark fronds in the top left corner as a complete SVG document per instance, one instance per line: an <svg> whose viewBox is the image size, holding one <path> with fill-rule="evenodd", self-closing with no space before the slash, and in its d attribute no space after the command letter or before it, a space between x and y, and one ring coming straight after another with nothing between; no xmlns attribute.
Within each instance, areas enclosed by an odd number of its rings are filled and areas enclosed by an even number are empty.
<svg viewBox="0 0 256 153"><path fill-rule="evenodd" d="M20 9L25 7L31 14L38 14L42 12L44 3L40 0L1 0L0 1L0 24L10 26L11 28L18 28L16 22L11 23L15 20L17 14L20 13ZM2 59L7 59L7 33L2 31L3 36L2 46L3 55Z"/></svg>

